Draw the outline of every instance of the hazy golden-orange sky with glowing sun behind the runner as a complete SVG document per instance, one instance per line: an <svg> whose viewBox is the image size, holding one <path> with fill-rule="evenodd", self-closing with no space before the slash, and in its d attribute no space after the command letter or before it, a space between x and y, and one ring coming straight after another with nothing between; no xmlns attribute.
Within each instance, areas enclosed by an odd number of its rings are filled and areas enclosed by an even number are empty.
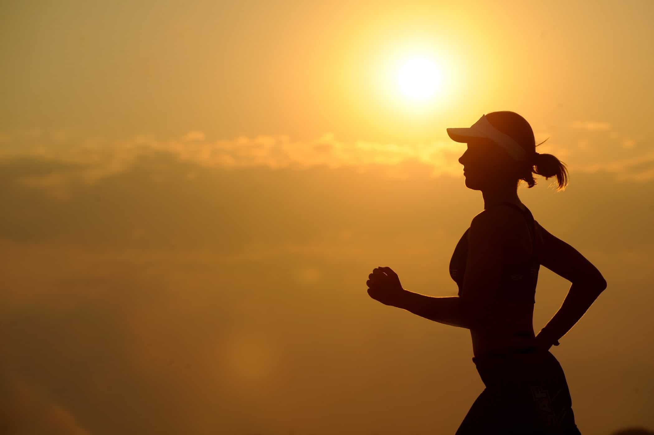
<svg viewBox="0 0 654 435"><path fill-rule="evenodd" d="M456 294L483 200L445 129L508 110L570 171L521 200L608 281L552 351L577 426L654 429L653 18L650 1L3 2L0 425L453 433L483 389L468 332L365 282L390 266ZM438 80L401 81L413 62ZM542 268L536 332L569 285Z"/></svg>

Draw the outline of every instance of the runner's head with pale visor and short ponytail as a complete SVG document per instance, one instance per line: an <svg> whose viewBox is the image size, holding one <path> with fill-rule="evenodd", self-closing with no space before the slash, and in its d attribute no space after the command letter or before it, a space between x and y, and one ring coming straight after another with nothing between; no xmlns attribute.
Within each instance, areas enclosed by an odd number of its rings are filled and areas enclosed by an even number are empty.
<svg viewBox="0 0 654 435"><path fill-rule="evenodd" d="M528 187L536 184L532 173L545 179L557 177L558 188L568 184L568 171L552 154L537 154L534 131L525 118L515 112L485 114L470 128L448 128L456 142L468 144L458 159L464 167L466 186L486 190L498 186L517 186L520 180Z"/></svg>

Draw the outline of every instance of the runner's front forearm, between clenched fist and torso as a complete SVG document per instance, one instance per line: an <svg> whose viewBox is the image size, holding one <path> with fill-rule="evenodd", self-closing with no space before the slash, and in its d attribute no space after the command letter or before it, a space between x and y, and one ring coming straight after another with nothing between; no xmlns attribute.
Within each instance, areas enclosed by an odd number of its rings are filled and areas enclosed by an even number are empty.
<svg viewBox="0 0 654 435"><path fill-rule="evenodd" d="M468 328L468 322L465 319L466 316L464 316L464 310L458 296L426 296L425 294L404 290L394 306L430 321L458 326L459 328Z"/></svg>

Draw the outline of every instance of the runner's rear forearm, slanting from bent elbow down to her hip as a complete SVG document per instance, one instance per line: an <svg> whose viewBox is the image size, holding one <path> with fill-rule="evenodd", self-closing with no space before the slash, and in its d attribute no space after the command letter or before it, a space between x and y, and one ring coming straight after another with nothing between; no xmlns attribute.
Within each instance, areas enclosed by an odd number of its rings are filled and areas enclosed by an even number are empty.
<svg viewBox="0 0 654 435"><path fill-rule="evenodd" d="M547 322L538 336L555 343L574 326L589 309L606 283L572 283L559 311Z"/></svg>

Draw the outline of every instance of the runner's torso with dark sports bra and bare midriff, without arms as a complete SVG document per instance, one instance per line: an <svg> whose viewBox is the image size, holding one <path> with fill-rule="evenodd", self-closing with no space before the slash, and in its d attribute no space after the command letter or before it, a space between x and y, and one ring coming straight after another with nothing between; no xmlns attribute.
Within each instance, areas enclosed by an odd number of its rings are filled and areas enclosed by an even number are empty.
<svg viewBox="0 0 654 435"><path fill-rule="evenodd" d="M516 231L521 242L519 249L525 258L523 264L505 265L502 271L502 284L498 289L498 305L494 311L497 321L488 324L483 330L470 330L472 348L475 357L489 352L502 352L519 347L521 340L534 338L534 294L538 281L538 222L535 222L526 207L514 204L525 217L526 224ZM533 234L533 235L532 235ZM468 251L468 231L456 245L450 262L450 275L457 283L461 296L463 277L465 275L466 255Z"/></svg>

